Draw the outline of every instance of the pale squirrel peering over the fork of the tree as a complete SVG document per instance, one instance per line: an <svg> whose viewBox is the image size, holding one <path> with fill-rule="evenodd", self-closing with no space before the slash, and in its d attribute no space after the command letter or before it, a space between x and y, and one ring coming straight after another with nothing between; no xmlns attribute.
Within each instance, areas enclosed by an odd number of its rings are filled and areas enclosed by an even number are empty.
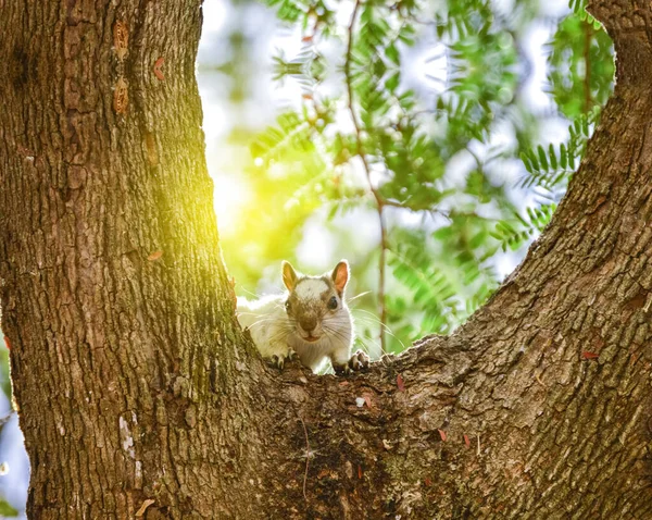
<svg viewBox="0 0 652 520"><path fill-rule="evenodd" d="M349 263L341 260L331 273L306 276L284 260L281 274L287 293L254 301L238 297L240 326L249 330L263 358L283 369L297 356L313 372L328 358L338 375L366 369L364 351L351 355L353 321L344 301Z"/></svg>

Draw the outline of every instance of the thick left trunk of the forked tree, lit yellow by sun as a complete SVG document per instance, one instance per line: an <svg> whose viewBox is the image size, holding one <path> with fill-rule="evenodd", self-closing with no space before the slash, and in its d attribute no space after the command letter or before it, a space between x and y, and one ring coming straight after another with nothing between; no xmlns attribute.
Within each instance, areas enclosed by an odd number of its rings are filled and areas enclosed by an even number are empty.
<svg viewBox="0 0 652 520"><path fill-rule="evenodd" d="M0 9L2 330L27 510L123 519L154 499L152 518L208 518L237 510L231 482L262 447L203 153L200 2L117 3Z"/></svg>

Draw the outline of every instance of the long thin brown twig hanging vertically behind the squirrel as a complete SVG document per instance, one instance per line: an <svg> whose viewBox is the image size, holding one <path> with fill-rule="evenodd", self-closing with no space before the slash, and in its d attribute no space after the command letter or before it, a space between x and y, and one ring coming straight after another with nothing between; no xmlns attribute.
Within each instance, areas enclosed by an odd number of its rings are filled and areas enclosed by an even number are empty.
<svg viewBox="0 0 652 520"><path fill-rule="evenodd" d="M385 256L387 250L387 228L385 226L385 219L383 218L383 208L385 207L384 200L374 187L372 182L372 171L369 163L366 159L364 148L362 146L362 132L360 129L360 123L358 122L358 115L355 114L355 108L353 107L353 87L351 86L351 60L353 59L353 30L355 28L355 21L358 20L358 11L362 4L361 0L355 1L353 7L353 13L351 14L351 22L349 23L349 41L347 44L347 60L344 62L344 77L347 79L347 92L349 95L349 112L351 112L351 120L355 127L358 156L362 160L364 165L364 173L369 185L369 190L376 199L376 212L378 213L378 223L380 225L380 259L378 260L378 308L380 313L380 348L383 351L385 348L385 322L387 321L387 310L385 309Z"/></svg>

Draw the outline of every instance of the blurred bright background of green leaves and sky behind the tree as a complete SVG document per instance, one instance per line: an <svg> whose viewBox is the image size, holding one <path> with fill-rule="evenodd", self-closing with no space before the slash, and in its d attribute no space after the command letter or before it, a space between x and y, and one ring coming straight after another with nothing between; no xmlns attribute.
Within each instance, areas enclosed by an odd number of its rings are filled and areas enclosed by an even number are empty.
<svg viewBox="0 0 652 520"><path fill-rule="evenodd" d="M239 295L349 260L359 348L448 334L548 224L613 87L582 0L204 0L197 71ZM28 461L0 350L0 517ZM2 422L3 421L3 422Z"/></svg>

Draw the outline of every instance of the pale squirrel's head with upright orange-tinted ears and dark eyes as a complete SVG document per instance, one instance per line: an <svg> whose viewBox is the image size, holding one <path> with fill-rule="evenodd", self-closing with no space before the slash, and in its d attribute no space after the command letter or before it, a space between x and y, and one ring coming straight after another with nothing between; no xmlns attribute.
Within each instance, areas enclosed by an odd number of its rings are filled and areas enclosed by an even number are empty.
<svg viewBox="0 0 652 520"><path fill-rule="evenodd" d="M290 262L283 262L283 283L289 292L285 308L301 339L314 343L322 336L339 341L348 337L351 317L344 302L347 282L349 263L346 260L322 276L297 274Z"/></svg>

